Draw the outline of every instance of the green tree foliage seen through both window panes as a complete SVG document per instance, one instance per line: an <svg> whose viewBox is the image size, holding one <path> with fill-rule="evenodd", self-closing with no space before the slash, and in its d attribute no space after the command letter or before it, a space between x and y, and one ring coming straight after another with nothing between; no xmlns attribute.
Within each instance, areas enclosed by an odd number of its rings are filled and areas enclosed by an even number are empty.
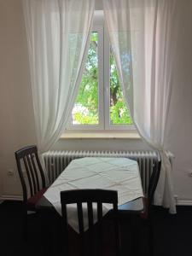
<svg viewBox="0 0 192 256"><path fill-rule="evenodd" d="M90 48L84 67L84 75L79 87L75 108L73 109L73 123L84 125L98 124L98 56L97 32L92 32ZM119 84L119 77L114 57L110 55L110 123L132 124L130 114L123 100L123 93Z"/></svg>

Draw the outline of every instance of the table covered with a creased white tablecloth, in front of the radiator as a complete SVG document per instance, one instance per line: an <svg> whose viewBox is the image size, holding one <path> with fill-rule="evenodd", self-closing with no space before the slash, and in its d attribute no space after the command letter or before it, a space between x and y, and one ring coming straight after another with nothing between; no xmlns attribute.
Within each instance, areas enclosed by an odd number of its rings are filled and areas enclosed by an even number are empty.
<svg viewBox="0 0 192 256"><path fill-rule="evenodd" d="M73 160L38 201L37 208L56 209L61 214L60 191L67 189L118 190L120 212L143 211L143 189L135 160L106 157Z"/></svg>

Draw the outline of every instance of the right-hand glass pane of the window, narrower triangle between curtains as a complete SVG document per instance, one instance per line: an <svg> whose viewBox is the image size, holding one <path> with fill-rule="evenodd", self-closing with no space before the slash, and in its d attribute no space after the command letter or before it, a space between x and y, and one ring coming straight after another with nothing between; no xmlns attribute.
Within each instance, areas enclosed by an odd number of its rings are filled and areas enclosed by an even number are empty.
<svg viewBox="0 0 192 256"><path fill-rule="evenodd" d="M110 51L110 125L132 125L131 115L126 108L121 90L117 67Z"/></svg>

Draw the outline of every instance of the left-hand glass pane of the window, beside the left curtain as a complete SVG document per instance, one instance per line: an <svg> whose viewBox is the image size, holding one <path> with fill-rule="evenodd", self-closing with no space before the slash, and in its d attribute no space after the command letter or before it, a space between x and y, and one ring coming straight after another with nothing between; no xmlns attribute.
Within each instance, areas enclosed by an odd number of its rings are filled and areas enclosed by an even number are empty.
<svg viewBox="0 0 192 256"><path fill-rule="evenodd" d="M73 125L98 125L98 33L92 32L79 95L73 108Z"/></svg>

